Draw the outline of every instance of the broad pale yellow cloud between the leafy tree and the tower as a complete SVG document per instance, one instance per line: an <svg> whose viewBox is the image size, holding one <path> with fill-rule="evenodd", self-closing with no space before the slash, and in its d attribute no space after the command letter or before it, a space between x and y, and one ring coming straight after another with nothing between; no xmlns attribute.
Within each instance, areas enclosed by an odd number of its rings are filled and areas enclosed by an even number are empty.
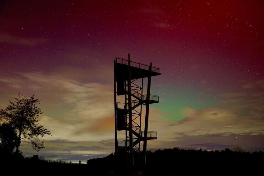
<svg viewBox="0 0 264 176"><path fill-rule="evenodd" d="M42 100L41 124L52 137L72 141L113 138L113 94L109 85L82 83L58 74L21 73L2 78L2 83L21 92L31 92ZM50 111L57 111L54 115ZM59 113L59 114L58 114ZM59 117L60 118L59 118ZM101 135L105 132L105 135Z"/></svg>

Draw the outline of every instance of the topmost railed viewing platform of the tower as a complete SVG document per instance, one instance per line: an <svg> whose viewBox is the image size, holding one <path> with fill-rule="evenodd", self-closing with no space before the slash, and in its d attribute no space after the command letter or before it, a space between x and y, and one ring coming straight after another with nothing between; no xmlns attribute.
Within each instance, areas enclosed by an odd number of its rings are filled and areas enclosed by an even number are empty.
<svg viewBox="0 0 264 176"><path fill-rule="evenodd" d="M148 71L149 65L142 64L135 61L130 61L130 71L131 71L131 80L146 78L149 75ZM119 77L128 71L128 60L123 58L116 57L116 75ZM151 68L151 76L160 75L160 68L153 67ZM128 77L126 76L126 80ZM117 80L118 82L118 80Z"/></svg>

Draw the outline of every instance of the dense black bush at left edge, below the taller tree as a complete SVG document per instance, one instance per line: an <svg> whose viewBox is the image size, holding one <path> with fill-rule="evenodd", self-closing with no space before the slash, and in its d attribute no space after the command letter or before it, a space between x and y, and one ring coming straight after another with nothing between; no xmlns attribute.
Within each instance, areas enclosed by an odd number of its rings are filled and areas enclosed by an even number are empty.
<svg viewBox="0 0 264 176"><path fill-rule="evenodd" d="M0 125L0 152L13 153L18 142L15 128L7 124Z"/></svg>

